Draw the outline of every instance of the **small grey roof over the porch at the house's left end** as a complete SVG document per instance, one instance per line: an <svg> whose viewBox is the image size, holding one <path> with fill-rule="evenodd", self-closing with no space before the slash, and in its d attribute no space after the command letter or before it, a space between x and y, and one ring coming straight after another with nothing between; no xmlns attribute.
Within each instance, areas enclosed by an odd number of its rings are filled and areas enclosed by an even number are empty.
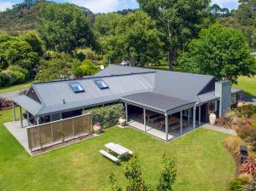
<svg viewBox="0 0 256 191"><path fill-rule="evenodd" d="M15 96L13 101L33 115L36 115L42 109L42 105L38 101L34 101L25 95Z"/></svg>

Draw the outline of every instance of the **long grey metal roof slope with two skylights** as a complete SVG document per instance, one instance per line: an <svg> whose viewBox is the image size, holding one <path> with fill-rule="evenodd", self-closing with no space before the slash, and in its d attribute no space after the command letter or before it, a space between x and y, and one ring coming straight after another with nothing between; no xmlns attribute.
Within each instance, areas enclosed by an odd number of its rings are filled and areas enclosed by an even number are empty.
<svg viewBox="0 0 256 191"><path fill-rule="evenodd" d="M101 90L96 79L103 79L108 89ZM153 90L154 73L135 75L109 76L99 78L83 78L78 80L56 81L32 84L43 107L38 114L90 107L95 104L119 100L120 96L131 93ZM75 94L70 83L79 82L84 92ZM65 104L63 103L65 100Z"/></svg>

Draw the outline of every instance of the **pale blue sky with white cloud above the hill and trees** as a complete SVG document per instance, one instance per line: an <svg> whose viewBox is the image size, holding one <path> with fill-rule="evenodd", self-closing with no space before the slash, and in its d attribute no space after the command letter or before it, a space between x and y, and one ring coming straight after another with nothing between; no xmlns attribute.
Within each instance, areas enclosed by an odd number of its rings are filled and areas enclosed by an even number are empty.
<svg viewBox="0 0 256 191"><path fill-rule="evenodd" d="M108 13L122 9L138 8L137 0L55 0L56 2L74 3L90 9L94 13ZM188 0L189 1L189 0ZM0 11L11 8L12 5L20 3L22 0L0 0ZM212 0L221 7L237 9L238 0Z"/></svg>

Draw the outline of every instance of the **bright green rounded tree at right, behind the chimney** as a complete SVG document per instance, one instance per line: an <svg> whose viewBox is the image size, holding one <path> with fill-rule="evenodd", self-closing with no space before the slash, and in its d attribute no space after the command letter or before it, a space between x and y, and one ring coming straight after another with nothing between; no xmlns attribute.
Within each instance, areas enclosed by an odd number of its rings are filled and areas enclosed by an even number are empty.
<svg viewBox="0 0 256 191"><path fill-rule="evenodd" d="M210 74L237 82L240 75L255 74L255 58L246 39L236 29L214 24L189 43L188 51L178 59L186 72Z"/></svg>

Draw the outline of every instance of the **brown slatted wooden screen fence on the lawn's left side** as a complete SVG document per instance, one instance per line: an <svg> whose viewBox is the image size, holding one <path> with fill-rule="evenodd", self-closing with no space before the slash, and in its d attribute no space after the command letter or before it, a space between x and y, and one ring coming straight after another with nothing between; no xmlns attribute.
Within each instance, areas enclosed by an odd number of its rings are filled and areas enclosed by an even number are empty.
<svg viewBox="0 0 256 191"><path fill-rule="evenodd" d="M27 128L28 145L31 150L33 148L43 148L55 142L64 142L73 137L84 136L91 130L92 119L90 114L39 124Z"/></svg>

